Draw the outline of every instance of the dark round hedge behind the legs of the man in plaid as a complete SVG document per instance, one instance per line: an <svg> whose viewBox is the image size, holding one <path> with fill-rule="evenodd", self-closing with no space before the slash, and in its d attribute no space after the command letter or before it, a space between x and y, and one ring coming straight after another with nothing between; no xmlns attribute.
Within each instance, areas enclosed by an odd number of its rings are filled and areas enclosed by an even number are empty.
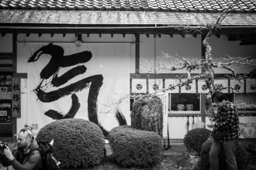
<svg viewBox="0 0 256 170"><path fill-rule="evenodd" d="M212 141L213 141L212 138L208 138L202 145L202 149L200 153L201 160L199 161L199 164L198 164L198 166L202 170L208 170L210 167L209 152L212 146ZM226 163L223 149L221 150L221 153L218 156L218 161L219 161L219 169L227 170L227 163ZM237 164L238 170L244 170L244 167L247 166L247 163L248 163L248 156L247 156L246 150L243 147L243 145L238 143L236 145L236 164Z"/></svg>

